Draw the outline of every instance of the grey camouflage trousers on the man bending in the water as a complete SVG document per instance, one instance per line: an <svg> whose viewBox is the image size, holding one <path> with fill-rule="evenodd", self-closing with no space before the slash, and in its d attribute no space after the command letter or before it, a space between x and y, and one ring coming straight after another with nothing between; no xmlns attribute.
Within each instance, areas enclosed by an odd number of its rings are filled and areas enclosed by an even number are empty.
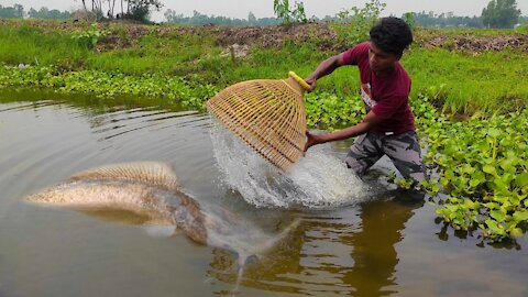
<svg viewBox="0 0 528 297"><path fill-rule="evenodd" d="M415 131L399 135L375 132L362 134L350 146L345 162L358 175L363 175L383 155L387 155L393 161L396 169L405 178L420 182L427 177Z"/></svg>

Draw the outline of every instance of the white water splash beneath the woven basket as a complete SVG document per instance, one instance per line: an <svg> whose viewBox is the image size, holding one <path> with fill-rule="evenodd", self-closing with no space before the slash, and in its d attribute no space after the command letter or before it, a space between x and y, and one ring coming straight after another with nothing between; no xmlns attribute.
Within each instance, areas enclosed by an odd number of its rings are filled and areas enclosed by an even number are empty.
<svg viewBox="0 0 528 297"><path fill-rule="evenodd" d="M285 173L220 124L211 129L211 139L222 182L256 207L330 208L372 197L369 187L329 145L312 146Z"/></svg>

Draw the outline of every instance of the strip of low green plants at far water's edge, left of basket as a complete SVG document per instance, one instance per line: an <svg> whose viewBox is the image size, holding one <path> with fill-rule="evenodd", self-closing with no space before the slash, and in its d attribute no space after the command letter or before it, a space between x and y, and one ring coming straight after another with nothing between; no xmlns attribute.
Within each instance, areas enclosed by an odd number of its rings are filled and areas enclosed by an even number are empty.
<svg viewBox="0 0 528 297"><path fill-rule="evenodd" d="M174 103L197 110L205 110L204 102L218 91L218 88L211 85L158 74L127 76L98 70L62 73L54 67L0 66L0 87L7 86L46 87L64 94L95 94L105 98L120 95L164 97Z"/></svg>

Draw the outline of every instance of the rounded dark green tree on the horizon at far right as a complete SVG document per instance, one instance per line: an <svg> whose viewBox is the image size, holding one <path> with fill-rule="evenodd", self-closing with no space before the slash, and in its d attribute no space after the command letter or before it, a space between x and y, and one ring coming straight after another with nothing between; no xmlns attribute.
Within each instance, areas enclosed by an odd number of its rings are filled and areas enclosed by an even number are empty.
<svg viewBox="0 0 528 297"><path fill-rule="evenodd" d="M514 28L519 15L515 0L492 0L482 10L482 22L488 28Z"/></svg>

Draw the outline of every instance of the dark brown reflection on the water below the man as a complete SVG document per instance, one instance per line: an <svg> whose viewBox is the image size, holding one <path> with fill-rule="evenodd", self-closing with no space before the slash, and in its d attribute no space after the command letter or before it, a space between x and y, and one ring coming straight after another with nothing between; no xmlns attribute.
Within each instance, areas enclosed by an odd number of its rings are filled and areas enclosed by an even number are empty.
<svg viewBox="0 0 528 297"><path fill-rule="evenodd" d="M422 205L378 200L344 210L342 217L312 213L266 254L249 261L242 284L301 295L395 294L399 263L396 245L405 238L407 221ZM234 284L237 255L215 249L211 257L208 276Z"/></svg>

